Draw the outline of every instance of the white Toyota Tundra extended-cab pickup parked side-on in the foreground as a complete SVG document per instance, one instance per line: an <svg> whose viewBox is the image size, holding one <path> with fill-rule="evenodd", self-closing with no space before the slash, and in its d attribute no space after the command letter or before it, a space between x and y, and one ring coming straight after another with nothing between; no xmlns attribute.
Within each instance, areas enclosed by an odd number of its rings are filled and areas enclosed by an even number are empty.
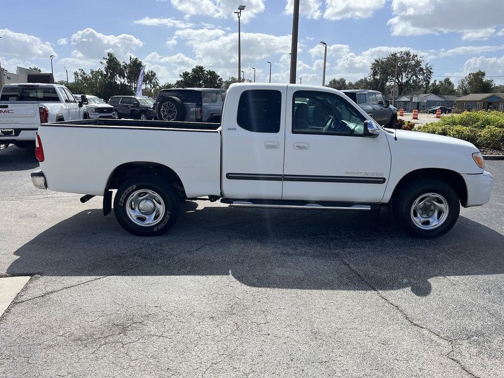
<svg viewBox="0 0 504 378"><path fill-rule="evenodd" d="M34 185L104 196L126 230L169 229L180 201L231 207L377 210L407 233L448 232L464 207L489 201L493 177L476 147L376 124L342 92L233 84L222 123L84 120L40 126Z"/></svg>

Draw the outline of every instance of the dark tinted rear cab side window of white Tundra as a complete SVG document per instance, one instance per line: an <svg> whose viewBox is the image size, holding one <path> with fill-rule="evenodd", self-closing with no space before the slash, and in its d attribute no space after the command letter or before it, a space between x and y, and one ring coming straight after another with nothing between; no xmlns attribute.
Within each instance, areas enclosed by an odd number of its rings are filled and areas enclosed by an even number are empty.
<svg viewBox="0 0 504 378"><path fill-rule="evenodd" d="M254 133L278 133L282 93L274 90L244 91L238 102L238 126Z"/></svg>

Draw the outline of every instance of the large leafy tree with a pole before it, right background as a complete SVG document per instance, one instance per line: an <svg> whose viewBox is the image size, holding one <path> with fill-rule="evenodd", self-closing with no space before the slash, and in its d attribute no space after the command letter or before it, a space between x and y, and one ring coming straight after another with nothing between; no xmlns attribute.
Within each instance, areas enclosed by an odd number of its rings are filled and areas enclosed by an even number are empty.
<svg viewBox="0 0 504 378"><path fill-rule="evenodd" d="M426 86L432 78L432 66L425 62L423 56L409 50L397 51L385 58L374 59L369 79L371 89L383 93L394 84L394 75L397 65L397 86L399 95L405 92L417 91Z"/></svg>

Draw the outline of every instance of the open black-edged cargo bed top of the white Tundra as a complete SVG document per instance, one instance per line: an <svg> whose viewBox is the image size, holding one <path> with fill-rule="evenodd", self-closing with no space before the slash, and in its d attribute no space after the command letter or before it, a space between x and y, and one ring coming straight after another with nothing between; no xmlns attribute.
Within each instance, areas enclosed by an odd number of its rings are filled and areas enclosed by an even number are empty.
<svg viewBox="0 0 504 378"><path fill-rule="evenodd" d="M180 130L218 130L220 123L212 122L183 122L183 121L141 121L136 119L82 119L77 121L55 122L62 125L95 125L110 128L155 128Z"/></svg>

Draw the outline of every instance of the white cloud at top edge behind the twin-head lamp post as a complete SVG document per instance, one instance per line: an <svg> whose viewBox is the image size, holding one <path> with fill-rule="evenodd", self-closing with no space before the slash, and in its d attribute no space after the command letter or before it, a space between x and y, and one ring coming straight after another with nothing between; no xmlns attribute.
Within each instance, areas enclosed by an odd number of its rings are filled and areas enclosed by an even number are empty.
<svg viewBox="0 0 504 378"><path fill-rule="evenodd" d="M205 15L217 18L235 17L233 12L238 9L235 0L170 0L171 5L185 14L186 17ZM241 14L242 22L248 22L258 14L264 12L264 0L248 0L245 10Z"/></svg>

